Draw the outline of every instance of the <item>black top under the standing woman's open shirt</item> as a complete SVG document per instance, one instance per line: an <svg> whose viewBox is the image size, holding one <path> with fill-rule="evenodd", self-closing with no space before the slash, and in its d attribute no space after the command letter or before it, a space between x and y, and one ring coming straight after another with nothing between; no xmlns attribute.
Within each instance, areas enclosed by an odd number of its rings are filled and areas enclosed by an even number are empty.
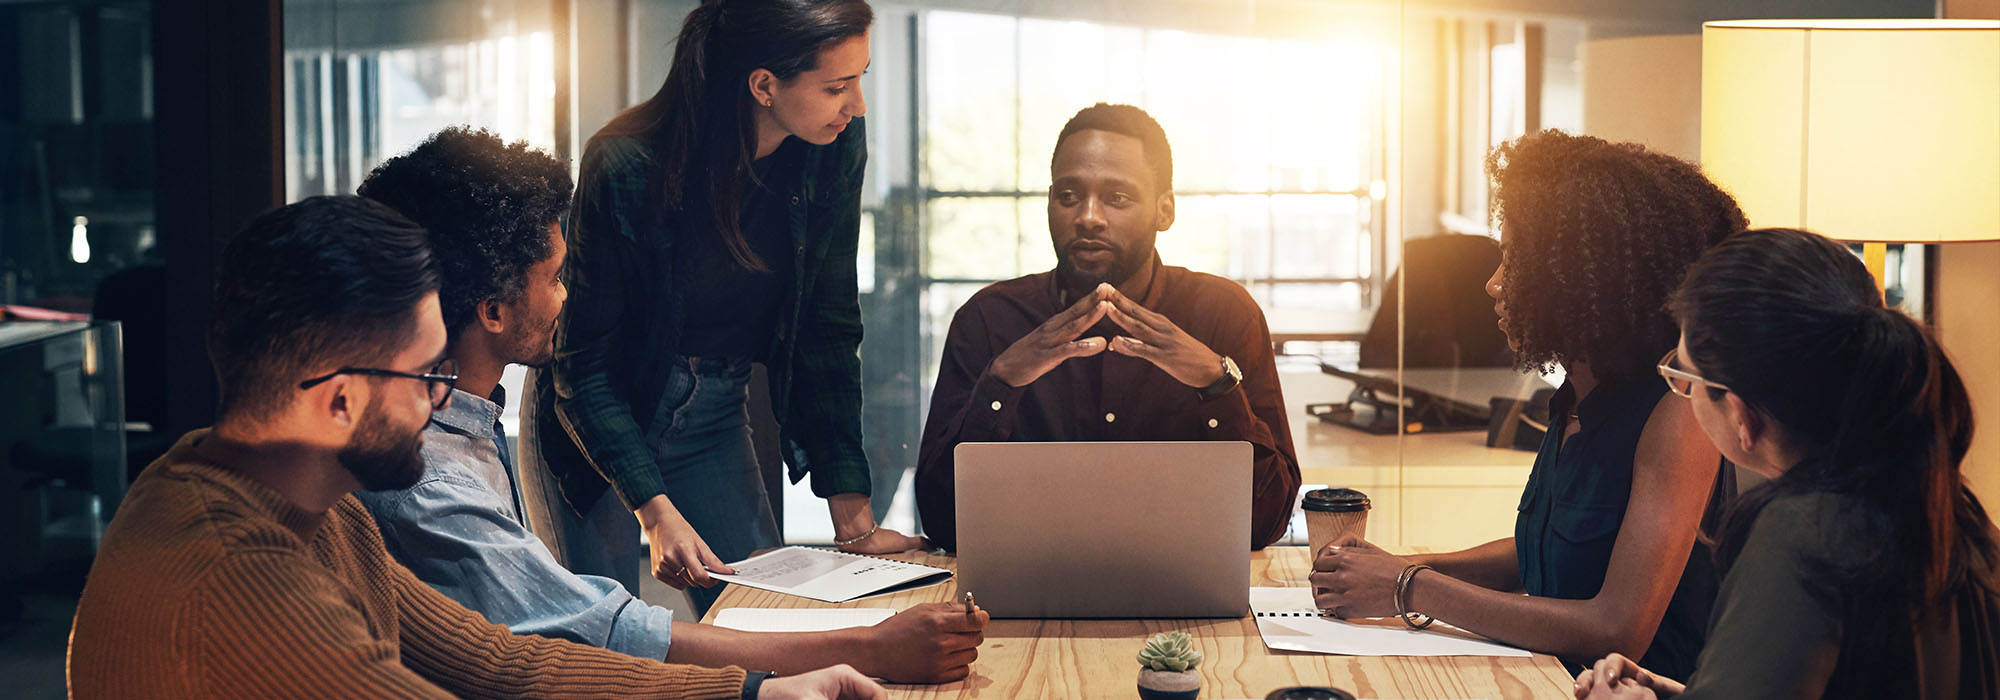
<svg viewBox="0 0 2000 700"><path fill-rule="evenodd" d="M792 292L792 210L798 192L784 174L798 168L800 146L786 140L754 164L756 180L744 184L744 242L766 270L748 270L730 260L720 244L702 238L688 246L680 294L688 320L680 354L698 358L764 360L772 334ZM774 176L776 174L776 176Z"/></svg>

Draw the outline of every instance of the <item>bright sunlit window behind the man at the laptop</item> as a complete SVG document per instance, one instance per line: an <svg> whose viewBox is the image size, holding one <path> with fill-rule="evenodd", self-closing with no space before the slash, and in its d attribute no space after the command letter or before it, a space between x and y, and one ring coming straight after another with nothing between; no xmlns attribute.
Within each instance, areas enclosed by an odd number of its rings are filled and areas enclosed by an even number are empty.
<svg viewBox="0 0 2000 700"><path fill-rule="evenodd" d="M1394 46L970 12L922 20L926 386L968 290L1054 266L1048 160L1062 124L1096 102L1146 108L1174 146L1166 264L1242 282L1274 328L1360 334L1334 326L1372 308L1386 276Z"/></svg>

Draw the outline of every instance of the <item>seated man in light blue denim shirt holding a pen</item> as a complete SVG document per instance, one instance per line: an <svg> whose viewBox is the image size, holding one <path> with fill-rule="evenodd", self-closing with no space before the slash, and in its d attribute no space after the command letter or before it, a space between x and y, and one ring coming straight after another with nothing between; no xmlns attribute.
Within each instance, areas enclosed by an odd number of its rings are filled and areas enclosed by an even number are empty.
<svg viewBox="0 0 2000 700"><path fill-rule="evenodd" d="M460 368L450 406L424 428L424 478L358 494L390 554L418 578L516 634L632 656L780 674L850 664L896 682L966 676L984 612L968 620L960 606L928 604L872 628L736 632L676 624L670 610L610 578L562 568L528 530L498 382L508 364L546 364L554 350L566 298L558 220L570 196L568 166L484 130L446 128L376 168L360 194L430 230L448 354Z"/></svg>

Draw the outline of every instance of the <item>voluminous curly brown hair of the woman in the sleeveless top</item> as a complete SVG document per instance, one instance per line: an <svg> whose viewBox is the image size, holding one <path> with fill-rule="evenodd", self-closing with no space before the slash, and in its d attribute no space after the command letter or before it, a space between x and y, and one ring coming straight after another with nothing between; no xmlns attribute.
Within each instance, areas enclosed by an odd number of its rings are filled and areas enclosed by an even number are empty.
<svg viewBox="0 0 2000 700"><path fill-rule="evenodd" d="M1688 266L1746 228L1700 168L1638 144L1544 130L1494 148L1486 172L1520 370L1650 370L1680 336L1666 300Z"/></svg>

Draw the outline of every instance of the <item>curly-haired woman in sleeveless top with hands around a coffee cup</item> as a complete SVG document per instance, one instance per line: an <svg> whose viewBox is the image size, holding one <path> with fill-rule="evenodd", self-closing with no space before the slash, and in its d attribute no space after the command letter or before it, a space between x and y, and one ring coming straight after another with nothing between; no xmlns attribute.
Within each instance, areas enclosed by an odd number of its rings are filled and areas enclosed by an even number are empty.
<svg viewBox="0 0 2000 700"><path fill-rule="evenodd" d="M1668 294L1744 216L1636 144L1540 132L1486 170L1502 250L1486 294L1520 368L1566 372L1514 536L1424 556L1334 542L1314 594L1338 616L1432 616L1572 668L1620 652L1686 678L1716 586L1696 530L1734 472L1652 368L1674 346Z"/></svg>

